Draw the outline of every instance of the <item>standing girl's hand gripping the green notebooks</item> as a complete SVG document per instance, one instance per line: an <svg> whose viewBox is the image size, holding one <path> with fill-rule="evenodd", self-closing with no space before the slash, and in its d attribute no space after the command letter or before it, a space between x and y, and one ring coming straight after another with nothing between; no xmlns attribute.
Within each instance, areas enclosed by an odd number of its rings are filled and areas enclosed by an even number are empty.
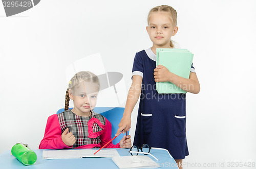
<svg viewBox="0 0 256 169"><path fill-rule="evenodd" d="M155 82L170 82L172 77L175 75L171 73L165 66L163 65L158 65L154 69L154 78Z"/></svg>

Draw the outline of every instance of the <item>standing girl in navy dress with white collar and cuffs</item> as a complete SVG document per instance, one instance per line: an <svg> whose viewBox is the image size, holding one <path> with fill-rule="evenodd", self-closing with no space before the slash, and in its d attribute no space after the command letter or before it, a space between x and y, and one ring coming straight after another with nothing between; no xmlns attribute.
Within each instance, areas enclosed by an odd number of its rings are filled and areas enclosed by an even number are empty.
<svg viewBox="0 0 256 169"><path fill-rule="evenodd" d="M178 31L176 10L167 5L157 6L148 13L147 23L146 31L153 46L135 55L133 82L117 133L131 128L131 113L140 96L134 145L138 147L147 143L152 147L165 148L182 168L182 159L188 155L186 94L158 94L156 82L172 82L191 93L198 93L200 84L193 66L189 79L171 73L162 65L156 66L156 49L174 47L171 37Z"/></svg>

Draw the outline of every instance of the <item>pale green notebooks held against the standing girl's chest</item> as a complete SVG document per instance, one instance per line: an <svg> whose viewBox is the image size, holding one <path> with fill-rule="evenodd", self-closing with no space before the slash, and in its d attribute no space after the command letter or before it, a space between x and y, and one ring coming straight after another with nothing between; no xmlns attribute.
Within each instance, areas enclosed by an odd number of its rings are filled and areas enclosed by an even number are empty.
<svg viewBox="0 0 256 169"><path fill-rule="evenodd" d="M194 54L186 49L157 48L157 65L183 78L189 78L193 57ZM157 82L156 89L158 93L186 93L171 82Z"/></svg>

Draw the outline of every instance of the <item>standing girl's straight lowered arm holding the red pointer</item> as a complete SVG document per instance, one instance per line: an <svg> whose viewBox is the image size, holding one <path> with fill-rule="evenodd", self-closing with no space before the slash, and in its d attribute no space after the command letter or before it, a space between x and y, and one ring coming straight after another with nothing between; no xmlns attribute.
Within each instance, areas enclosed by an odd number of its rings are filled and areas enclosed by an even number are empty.
<svg viewBox="0 0 256 169"><path fill-rule="evenodd" d="M116 135L118 135L121 131L124 134L131 128L131 114L140 96L141 83L142 77L139 75L134 75L132 85L127 95L123 117L118 125L119 129L117 130Z"/></svg>

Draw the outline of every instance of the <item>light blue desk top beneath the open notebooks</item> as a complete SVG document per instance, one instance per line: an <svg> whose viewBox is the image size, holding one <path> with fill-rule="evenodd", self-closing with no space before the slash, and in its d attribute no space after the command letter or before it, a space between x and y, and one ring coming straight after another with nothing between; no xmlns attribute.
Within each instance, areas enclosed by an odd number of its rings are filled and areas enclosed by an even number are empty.
<svg viewBox="0 0 256 169"><path fill-rule="evenodd" d="M116 149L120 156L131 155L129 149ZM0 168L111 168L115 169L117 165L111 158L77 158L77 159L54 159L54 160L42 160L43 150L33 150L37 155L37 160L33 165L26 166L19 162L14 156L11 155L11 151L5 151L0 155ZM168 152L164 150L151 150L150 153L154 155L159 161L156 161L150 155L160 168L178 168L175 164L175 160L170 158ZM144 156L144 155L143 155Z"/></svg>

